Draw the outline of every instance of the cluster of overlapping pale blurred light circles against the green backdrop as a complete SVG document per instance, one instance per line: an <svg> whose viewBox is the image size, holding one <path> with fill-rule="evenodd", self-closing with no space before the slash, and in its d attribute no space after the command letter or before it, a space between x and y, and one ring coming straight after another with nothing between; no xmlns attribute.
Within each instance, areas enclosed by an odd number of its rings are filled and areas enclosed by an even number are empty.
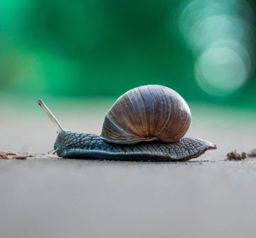
<svg viewBox="0 0 256 238"><path fill-rule="evenodd" d="M179 16L179 29L195 57L203 91L229 96L254 71L254 13L245 1L194 0Z"/></svg>

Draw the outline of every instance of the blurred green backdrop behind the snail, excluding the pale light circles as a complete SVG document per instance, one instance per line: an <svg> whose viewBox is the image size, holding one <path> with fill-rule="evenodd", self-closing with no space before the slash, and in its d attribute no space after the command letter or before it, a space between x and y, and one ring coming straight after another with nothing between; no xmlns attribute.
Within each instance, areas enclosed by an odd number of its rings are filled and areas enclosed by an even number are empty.
<svg viewBox="0 0 256 238"><path fill-rule="evenodd" d="M197 1L207 2L221 1ZM207 93L195 80L198 56L182 33L179 18L191 1L180 0L2 0L0 92L118 97L137 86L162 84L189 101L254 105L256 3L225 2L229 3L225 14L239 19L246 16L243 6L251 7L252 35L246 50L252 67L231 93L214 95L214 87ZM232 2L239 2L240 13L229 10ZM213 15L224 14L216 9ZM198 8L190 9L190 15L194 13Z"/></svg>

